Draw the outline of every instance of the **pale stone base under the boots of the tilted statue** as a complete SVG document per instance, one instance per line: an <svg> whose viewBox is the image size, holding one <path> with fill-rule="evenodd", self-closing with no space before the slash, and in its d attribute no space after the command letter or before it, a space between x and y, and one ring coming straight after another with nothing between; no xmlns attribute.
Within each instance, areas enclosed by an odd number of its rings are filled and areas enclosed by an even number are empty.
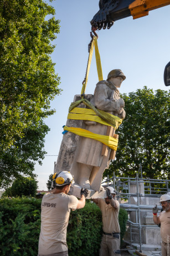
<svg viewBox="0 0 170 256"><path fill-rule="evenodd" d="M81 191L81 186L78 184L74 183L70 187L69 195L74 195L76 198L80 198L80 191ZM106 190L103 191L95 191L92 189L88 189L89 195L86 197L86 199L91 199L91 198L106 198Z"/></svg>

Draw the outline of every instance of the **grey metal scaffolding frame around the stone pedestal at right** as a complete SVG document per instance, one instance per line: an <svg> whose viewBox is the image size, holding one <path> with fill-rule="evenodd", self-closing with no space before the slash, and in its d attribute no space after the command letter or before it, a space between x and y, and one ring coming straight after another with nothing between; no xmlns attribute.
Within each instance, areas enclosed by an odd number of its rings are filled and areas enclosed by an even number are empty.
<svg viewBox="0 0 170 256"><path fill-rule="evenodd" d="M107 183L107 186L109 186L109 183L111 183L111 186L116 189L117 194L116 198L120 203L120 207L124 208L128 213L131 211L135 211L136 213L136 223L133 223L131 220L127 220L127 224L130 227L130 247L132 248L132 227L137 227L139 230L139 238L140 238L140 252L142 252L142 237L141 237L141 229L144 227L154 227L154 225L141 225L141 211L152 211L153 205L140 205L140 199L142 197L152 197L152 198L160 198L162 194L165 194L167 192L170 192L169 184L170 180L157 180L157 179L144 179L142 177L142 169L141 169L141 178L139 178L139 172L136 173L136 178L130 178L130 177L116 177L115 172L114 176L112 178L109 178L109 175L107 175L107 179L102 182ZM131 193L130 189L130 183L131 181L136 181L136 193ZM144 185L144 194L139 193L139 183L145 183L148 185ZM160 188L157 186L152 187L152 184L162 184ZM146 189L146 190L145 190ZM128 193L127 193L128 190ZM125 191L125 192L124 192ZM146 192L146 193L145 193ZM148 194L147 194L148 193ZM131 196L137 197L137 204L131 204ZM128 200L128 204L121 204L121 200ZM162 206L158 206L158 209L161 210ZM130 215L129 215L130 216ZM157 226L155 224L155 226Z"/></svg>

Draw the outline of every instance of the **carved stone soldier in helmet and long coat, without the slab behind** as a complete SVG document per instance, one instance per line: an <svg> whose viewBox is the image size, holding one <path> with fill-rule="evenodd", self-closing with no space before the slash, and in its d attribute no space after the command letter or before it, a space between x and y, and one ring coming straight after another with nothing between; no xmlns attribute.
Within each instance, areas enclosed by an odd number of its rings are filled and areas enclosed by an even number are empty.
<svg viewBox="0 0 170 256"><path fill-rule="evenodd" d="M107 77L107 81L97 83L94 96L90 102L97 109L124 119L125 110L123 107L125 106L125 102L120 98L117 88L121 86L125 78L121 70L112 70ZM106 125L94 121L85 121L85 124L86 130L94 132L95 134L106 135ZM91 184L95 183L95 179L97 178L96 174L100 166L102 166L102 171L100 171L100 179L102 179L102 173L104 173L105 168L109 165L111 149L109 149L107 156L102 156L102 146L103 144L99 141L86 137L81 139L81 150L76 161L78 162L79 169L78 183L84 188L90 189ZM102 187L100 189L102 189Z"/></svg>

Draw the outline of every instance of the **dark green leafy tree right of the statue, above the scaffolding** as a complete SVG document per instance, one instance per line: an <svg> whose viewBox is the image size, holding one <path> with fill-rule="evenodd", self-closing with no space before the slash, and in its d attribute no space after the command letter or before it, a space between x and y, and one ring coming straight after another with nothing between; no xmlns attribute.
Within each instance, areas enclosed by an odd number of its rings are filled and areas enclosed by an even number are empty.
<svg viewBox="0 0 170 256"><path fill-rule="evenodd" d="M148 89L123 94L126 117L116 131L116 159L105 176L135 177L142 164L143 178L170 179L170 100L168 91Z"/></svg>

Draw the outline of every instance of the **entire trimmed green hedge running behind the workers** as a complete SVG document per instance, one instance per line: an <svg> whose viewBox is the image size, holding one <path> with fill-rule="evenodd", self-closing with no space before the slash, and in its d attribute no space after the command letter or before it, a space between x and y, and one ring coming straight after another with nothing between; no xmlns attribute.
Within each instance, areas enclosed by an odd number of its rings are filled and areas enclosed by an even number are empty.
<svg viewBox="0 0 170 256"><path fill-rule="evenodd" d="M37 256L42 199L0 199L0 255ZM120 209L121 239L126 230L127 213ZM102 235L101 211L87 201L85 207L71 211L67 244L69 256L99 255Z"/></svg>

